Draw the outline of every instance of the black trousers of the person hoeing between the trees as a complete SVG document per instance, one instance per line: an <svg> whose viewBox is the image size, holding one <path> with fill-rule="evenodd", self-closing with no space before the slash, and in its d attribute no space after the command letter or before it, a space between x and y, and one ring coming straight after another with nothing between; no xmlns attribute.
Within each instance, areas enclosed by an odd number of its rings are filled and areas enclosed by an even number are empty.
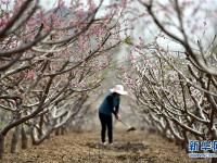
<svg viewBox="0 0 217 163"><path fill-rule="evenodd" d="M113 142L113 126L112 126L112 115L106 115L103 113L99 113L102 130L101 130L101 139L102 142L105 142L105 131L107 129L108 142Z"/></svg>

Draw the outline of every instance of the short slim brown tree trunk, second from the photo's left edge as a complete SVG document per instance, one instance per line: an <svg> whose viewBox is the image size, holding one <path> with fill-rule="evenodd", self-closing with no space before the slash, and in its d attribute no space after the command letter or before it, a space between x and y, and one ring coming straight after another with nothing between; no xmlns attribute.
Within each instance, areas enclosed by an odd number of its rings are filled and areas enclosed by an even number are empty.
<svg viewBox="0 0 217 163"><path fill-rule="evenodd" d="M18 138L21 135L21 126L16 126L11 139L11 153L17 152Z"/></svg>

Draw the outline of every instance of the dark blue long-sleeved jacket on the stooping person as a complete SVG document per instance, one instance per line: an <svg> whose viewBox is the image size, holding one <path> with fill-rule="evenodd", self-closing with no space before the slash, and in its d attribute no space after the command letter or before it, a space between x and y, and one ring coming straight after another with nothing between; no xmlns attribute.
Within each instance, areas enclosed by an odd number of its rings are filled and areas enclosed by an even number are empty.
<svg viewBox="0 0 217 163"><path fill-rule="evenodd" d="M112 116L112 113L116 115L118 113L118 110L119 97L115 96L114 93L110 93L105 97L102 104L100 105L99 112Z"/></svg>

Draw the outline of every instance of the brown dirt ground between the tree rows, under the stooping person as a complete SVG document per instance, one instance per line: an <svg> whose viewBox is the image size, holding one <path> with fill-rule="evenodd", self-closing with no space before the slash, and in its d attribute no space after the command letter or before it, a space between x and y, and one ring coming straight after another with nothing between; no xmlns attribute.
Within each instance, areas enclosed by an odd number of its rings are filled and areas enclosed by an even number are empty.
<svg viewBox="0 0 217 163"><path fill-rule="evenodd" d="M189 159L156 135L115 133L113 147L99 143L99 131L52 137L40 146L16 154L5 153L5 163L206 163Z"/></svg>

